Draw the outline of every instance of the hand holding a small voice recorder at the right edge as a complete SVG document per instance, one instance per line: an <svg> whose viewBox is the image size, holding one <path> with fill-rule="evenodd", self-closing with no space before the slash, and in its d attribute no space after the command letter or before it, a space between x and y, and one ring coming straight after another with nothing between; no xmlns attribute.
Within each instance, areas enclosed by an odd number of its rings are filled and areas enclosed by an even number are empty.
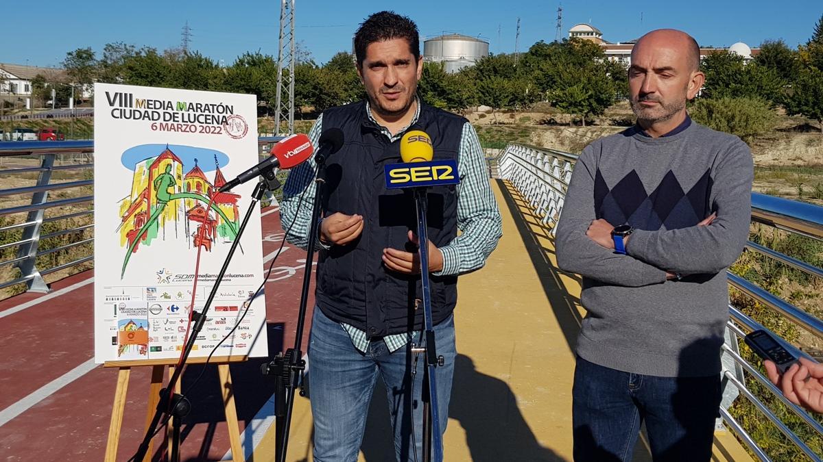
<svg viewBox="0 0 823 462"><path fill-rule="evenodd" d="M780 377L777 366L764 361L769 380L783 390L789 401L812 411L823 413L823 364L800 358L800 366L794 364Z"/></svg>

